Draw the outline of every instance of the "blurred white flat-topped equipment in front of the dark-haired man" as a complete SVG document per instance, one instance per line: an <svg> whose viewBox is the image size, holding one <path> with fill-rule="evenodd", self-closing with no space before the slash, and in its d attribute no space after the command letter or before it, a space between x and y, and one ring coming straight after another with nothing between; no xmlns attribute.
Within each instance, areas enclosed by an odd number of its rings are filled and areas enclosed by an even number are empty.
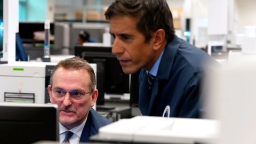
<svg viewBox="0 0 256 144"><path fill-rule="evenodd" d="M208 143L218 138L219 121L136 116L103 126L92 141L125 143Z"/></svg>

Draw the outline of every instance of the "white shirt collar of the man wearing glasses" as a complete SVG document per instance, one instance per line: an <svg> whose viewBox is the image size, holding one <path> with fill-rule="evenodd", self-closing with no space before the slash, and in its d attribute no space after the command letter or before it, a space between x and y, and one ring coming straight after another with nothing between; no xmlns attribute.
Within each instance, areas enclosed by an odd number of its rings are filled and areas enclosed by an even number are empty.
<svg viewBox="0 0 256 144"><path fill-rule="evenodd" d="M83 129L84 129L84 125L87 121L87 118L84 120L84 122L76 127L73 127L72 129L70 129L69 131L73 132L74 134L77 135L77 137L81 137L81 134L83 132ZM68 131L68 129L63 126L61 123L59 123L59 134L62 134L64 132Z"/></svg>

